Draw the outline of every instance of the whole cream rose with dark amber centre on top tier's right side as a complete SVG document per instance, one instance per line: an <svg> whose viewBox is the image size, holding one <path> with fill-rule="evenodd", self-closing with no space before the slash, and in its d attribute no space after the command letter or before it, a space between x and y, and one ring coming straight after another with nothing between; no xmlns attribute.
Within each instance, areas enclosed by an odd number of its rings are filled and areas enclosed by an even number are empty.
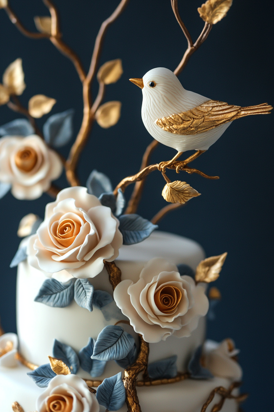
<svg viewBox="0 0 274 412"><path fill-rule="evenodd" d="M136 283L120 282L114 299L135 332L150 343L190 336L208 310L204 286L180 276L175 265L161 258L147 262Z"/></svg>

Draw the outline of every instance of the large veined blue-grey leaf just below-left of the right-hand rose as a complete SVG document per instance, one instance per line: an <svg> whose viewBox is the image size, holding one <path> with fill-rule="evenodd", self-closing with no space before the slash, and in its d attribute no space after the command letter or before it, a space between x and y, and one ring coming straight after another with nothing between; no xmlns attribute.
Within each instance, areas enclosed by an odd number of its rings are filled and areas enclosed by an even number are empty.
<svg viewBox="0 0 274 412"><path fill-rule="evenodd" d="M98 335L92 359L119 361L127 356L134 343L134 338L121 326L108 325Z"/></svg>

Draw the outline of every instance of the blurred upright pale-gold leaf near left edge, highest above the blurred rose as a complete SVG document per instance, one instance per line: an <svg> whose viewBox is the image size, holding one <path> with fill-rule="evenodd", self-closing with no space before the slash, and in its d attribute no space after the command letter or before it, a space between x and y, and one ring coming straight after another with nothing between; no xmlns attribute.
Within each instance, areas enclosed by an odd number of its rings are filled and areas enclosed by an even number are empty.
<svg viewBox="0 0 274 412"><path fill-rule="evenodd" d="M25 90L24 72L22 68L22 59L16 59L5 70L3 74L3 84L8 89L9 94L18 96Z"/></svg>

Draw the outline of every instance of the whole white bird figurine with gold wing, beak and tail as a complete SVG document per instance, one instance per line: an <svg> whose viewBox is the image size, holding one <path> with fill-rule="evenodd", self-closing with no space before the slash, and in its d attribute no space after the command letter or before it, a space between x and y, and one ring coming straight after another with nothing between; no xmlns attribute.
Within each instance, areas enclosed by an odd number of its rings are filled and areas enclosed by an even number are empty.
<svg viewBox="0 0 274 412"><path fill-rule="evenodd" d="M164 67L148 71L142 79L129 80L142 89L142 119L147 131L178 151L172 160L159 164L162 171L187 150L197 150L198 157L233 120L266 115L272 110L267 103L240 107L185 90L175 74Z"/></svg>

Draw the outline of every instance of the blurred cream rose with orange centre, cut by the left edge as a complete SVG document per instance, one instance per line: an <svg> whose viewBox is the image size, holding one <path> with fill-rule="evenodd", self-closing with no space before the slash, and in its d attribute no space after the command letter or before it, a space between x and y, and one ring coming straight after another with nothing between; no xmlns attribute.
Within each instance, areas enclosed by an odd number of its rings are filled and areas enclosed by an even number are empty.
<svg viewBox="0 0 274 412"><path fill-rule="evenodd" d="M37 199L62 173L60 157L36 135L0 138L0 181L17 199Z"/></svg>

